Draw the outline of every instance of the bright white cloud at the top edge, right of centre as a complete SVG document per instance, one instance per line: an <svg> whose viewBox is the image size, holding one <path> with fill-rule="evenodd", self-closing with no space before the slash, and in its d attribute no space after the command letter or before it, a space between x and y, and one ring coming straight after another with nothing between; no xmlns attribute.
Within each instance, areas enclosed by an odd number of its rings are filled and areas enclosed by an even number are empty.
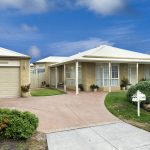
<svg viewBox="0 0 150 150"><path fill-rule="evenodd" d="M124 9L124 0L77 0L77 5L102 15L110 15Z"/></svg>

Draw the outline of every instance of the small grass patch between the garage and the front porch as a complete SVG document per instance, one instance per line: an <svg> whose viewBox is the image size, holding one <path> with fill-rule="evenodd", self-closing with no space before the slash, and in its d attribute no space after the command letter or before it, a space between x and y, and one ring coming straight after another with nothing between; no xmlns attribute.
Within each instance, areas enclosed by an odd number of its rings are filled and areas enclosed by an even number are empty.
<svg viewBox="0 0 150 150"><path fill-rule="evenodd" d="M49 89L49 88L31 90L32 96L53 96L53 95L60 95L60 94L65 94L65 92L56 89Z"/></svg>

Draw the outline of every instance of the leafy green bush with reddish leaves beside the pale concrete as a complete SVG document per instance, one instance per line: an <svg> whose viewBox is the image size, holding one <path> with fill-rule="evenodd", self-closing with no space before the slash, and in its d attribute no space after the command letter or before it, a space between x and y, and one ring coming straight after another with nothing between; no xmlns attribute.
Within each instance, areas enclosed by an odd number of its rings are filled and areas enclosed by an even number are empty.
<svg viewBox="0 0 150 150"><path fill-rule="evenodd" d="M27 139L36 131L38 122L30 112L0 109L0 138Z"/></svg>

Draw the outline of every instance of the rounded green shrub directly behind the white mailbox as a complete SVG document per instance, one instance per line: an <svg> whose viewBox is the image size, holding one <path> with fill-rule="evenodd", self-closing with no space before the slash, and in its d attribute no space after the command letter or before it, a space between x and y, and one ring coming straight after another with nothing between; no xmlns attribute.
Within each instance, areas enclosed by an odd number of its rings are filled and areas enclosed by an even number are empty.
<svg viewBox="0 0 150 150"><path fill-rule="evenodd" d="M150 104L150 81L140 81L138 84L131 86L127 92L128 100L132 102L132 96L140 90L143 94L146 95L146 101L143 103Z"/></svg>

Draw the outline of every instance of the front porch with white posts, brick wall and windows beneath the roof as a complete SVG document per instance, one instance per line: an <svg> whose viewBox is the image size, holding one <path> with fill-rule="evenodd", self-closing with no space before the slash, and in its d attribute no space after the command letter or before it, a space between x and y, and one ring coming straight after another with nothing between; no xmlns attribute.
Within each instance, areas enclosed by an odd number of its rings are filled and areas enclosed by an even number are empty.
<svg viewBox="0 0 150 150"><path fill-rule="evenodd" d="M92 84L101 91L120 90L121 80L126 78L131 85L142 79L150 79L150 64L138 62L71 62L50 68L50 85L55 88L75 90L79 84L90 91Z"/></svg>

